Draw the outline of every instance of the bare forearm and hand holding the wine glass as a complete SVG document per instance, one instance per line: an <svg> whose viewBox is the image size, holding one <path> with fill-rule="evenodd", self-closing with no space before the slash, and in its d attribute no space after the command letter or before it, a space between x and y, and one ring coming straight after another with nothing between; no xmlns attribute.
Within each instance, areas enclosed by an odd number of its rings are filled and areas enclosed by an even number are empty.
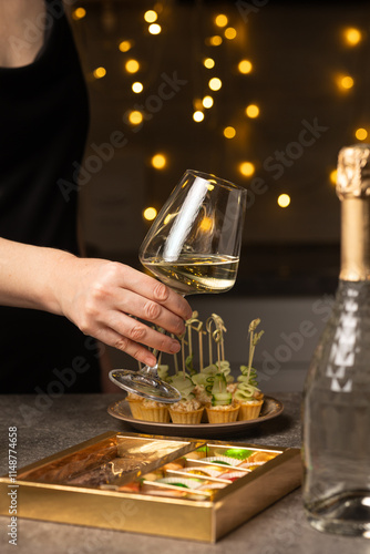
<svg viewBox="0 0 370 554"><path fill-rule="evenodd" d="M130 266L3 238L0 304L65 316L85 335L150 366L155 357L145 346L174 353L179 342L130 315L174 335L192 316L183 297Z"/></svg>

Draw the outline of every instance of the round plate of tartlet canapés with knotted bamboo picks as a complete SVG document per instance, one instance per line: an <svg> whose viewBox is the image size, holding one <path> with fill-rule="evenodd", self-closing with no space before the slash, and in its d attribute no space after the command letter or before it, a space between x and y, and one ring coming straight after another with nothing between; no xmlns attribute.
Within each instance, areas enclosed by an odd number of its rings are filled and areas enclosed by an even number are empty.
<svg viewBox="0 0 370 554"><path fill-rule="evenodd" d="M253 358L257 342L264 331L257 331L259 319L248 327L248 363L240 366L239 375L232 376L230 365L225 359L225 324L213 314L204 326L194 312L186 321L186 334L182 338L182 368L175 358L175 373L168 375L168 366L160 365L158 373L182 394L172 404L145 399L129 392L126 398L109 407L109 413L138 431L173 434L179 437L212 437L241 432L250 425L263 423L282 412L282 403L267 397L258 388ZM206 331L203 328L206 328ZM192 334L198 338L199 367L193 367ZM208 360L204 365L203 338L208 336ZM186 356L187 349L187 356Z"/></svg>

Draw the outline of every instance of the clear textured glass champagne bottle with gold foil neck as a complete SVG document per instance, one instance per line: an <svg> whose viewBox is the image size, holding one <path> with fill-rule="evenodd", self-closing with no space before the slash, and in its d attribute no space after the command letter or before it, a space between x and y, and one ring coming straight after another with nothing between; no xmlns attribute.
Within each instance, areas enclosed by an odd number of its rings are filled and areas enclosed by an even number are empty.
<svg viewBox="0 0 370 554"><path fill-rule="evenodd" d="M304 392L304 504L319 531L370 537L370 144L339 152L341 264Z"/></svg>

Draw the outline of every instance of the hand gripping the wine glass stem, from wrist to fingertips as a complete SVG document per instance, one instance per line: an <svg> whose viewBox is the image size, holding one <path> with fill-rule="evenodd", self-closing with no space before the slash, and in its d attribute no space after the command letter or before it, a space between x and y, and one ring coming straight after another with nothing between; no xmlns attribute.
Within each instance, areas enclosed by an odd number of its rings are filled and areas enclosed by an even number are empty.
<svg viewBox="0 0 370 554"><path fill-rule="evenodd" d="M64 283L56 279L55 294L61 312L85 335L148 366L154 366L156 358L143 345L178 352L179 342L152 326L183 334L192 309L182 296L130 266L103 259L74 258L69 276L64 275Z"/></svg>

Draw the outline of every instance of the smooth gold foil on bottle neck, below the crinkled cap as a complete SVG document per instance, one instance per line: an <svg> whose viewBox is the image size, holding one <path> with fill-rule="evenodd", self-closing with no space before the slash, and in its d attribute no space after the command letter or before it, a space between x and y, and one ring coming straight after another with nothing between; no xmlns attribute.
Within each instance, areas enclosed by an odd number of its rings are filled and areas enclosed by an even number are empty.
<svg viewBox="0 0 370 554"><path fill-rule="evenodd" d="M370 281L370 198L341 202L341 280Z"/></svg>

